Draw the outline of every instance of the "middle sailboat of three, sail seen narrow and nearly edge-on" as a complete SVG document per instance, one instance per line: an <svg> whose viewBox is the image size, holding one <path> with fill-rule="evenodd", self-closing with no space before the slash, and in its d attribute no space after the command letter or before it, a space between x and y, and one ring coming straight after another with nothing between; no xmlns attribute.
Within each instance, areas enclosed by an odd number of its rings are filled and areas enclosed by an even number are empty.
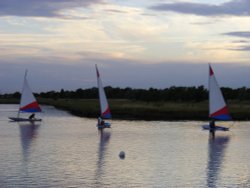
<svg viewBox="0 0 250 188"><path fill-rule="evenodd" d="M103 121L103 119L110 119L111 113L110 113L107 97L102 86L102 80L100 78L97 65L95 65L95 68L96 68L99 102L100 102L100 109L101 109L101 115L98 118L97 128L98 129L110 128L111 124L109 122Z"/></svg>

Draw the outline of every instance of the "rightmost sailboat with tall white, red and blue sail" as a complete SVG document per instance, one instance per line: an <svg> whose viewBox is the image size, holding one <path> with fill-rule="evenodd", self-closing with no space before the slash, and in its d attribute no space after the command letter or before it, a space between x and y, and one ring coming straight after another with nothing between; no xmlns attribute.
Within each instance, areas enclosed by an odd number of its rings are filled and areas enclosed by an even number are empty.
<svg viewBox="0 0 250 188"><path fill-rule="evenodd" d="M231 120L226 102L222 95L219 84L215 78L214 71L211 65L209 65L209 117L212 119L212 121ZM210 125L203 125L203 129L210 130ZM229 128L222 126L215 126L214 130L228 131Z"/></svg>

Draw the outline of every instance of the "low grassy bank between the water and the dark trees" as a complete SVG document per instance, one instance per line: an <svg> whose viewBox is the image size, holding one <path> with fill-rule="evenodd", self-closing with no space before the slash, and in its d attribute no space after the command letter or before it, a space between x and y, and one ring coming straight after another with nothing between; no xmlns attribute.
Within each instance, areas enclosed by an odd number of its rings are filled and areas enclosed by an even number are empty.
<svg viewBox="0 0 250 188"><path fill-rule="evenodd" d="M97 99L38 99L39 103L55 106L73 115L93 117L99 115ZM19 100L0 100L0 103L18 103ZM207 120L208 102L142 102L132 100L109 100L113 119L140 120ZM250 101L228 101L234 120L248 120Z"/></svg>

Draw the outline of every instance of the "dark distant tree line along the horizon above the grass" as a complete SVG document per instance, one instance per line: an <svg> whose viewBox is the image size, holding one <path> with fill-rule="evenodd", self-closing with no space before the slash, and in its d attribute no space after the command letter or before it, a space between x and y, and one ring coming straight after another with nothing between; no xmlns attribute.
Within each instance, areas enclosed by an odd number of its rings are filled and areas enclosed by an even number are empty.
<svg viewBox="0 0 250 188"><path fill-rule="evenodd" d="M132 89L113 88L107 86L104 88L109 99L130 99L140 101L193 101L199 102L208 99L208 91L204 86L198 87L169 87L166 89ZM223 95L227 100L250 100L250 89L246 87L232 89L222 88ZM41 98L65 98L65 99L97 99L98 89L96 87L89 89L77 89L75 91L48 91L35 94ZM20 93L1 94L1 98L20 98Z"/></svg>

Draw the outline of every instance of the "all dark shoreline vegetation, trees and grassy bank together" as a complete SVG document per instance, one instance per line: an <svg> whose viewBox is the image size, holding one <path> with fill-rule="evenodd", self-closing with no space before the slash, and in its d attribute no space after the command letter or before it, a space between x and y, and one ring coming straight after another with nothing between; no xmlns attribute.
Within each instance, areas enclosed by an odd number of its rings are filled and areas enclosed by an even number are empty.
<svg viewBox="0 0 250 188"><path fill-rule="evenodd" d="M208 92L199 87L166 89L105 88L113 119L207 120ZM250 117L250 89L222 88L234 120ZM55 106L82 117L98 117L97 88L36 94L40 104ZM0 95L0 103L19 103L20 93Z"/></svg>

